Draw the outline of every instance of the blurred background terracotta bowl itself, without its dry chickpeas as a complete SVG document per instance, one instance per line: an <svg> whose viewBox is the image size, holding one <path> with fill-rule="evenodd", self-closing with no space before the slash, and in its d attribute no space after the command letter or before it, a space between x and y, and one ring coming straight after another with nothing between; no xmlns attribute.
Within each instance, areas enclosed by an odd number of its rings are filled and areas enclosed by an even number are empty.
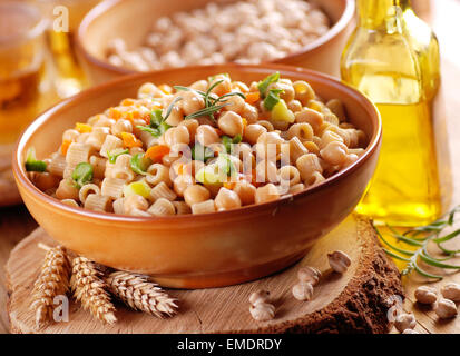
<svg viewBox="0 0 460 356"><path fill-rule="evenodd" d="M77 53L94 83L115 79L135 71L110 65L105 58L107 43L123 38L128 47L143 43L151 23L159 17L176 11L202 8L211 0L106 0L94 8L84 19L77 36ZM215 0L213 0L215 1ZM232 2L235 0L219 0ZM275 62L317 70L339 76L340 57L353 29L354 0L310 0L316 2L331 19L331 30L302 51ZM116 26L114 26L116 23ZM133 23L136 23L133 26Z"/></svg>

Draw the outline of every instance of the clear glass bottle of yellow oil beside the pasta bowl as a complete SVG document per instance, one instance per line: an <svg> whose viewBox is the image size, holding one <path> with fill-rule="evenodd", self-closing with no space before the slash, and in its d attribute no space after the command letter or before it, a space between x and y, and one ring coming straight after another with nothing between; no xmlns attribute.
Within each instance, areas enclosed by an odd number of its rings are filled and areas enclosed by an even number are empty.
<svg viewBox="0 0 460 356"><path fill-rule="evenodd" d="M380 161L358 212L413 226L441 212L432 102L439 44L409 0L356 0L359 24L341 61L342 80L365 93L383 121Z"/></svg>

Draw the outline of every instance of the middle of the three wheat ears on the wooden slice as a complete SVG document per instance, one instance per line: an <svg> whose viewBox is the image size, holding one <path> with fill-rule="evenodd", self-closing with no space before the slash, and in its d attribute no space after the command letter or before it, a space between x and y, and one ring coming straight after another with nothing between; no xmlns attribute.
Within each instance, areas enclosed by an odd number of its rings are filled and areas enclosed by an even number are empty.
<svg viewBox="0 0 460 356"><path fill-rule="evenodd" d="M115 307L101 276L102 273L94 261L85 257L74 258L70 278L74 296L94 317L102 323L115 324Z"/></svg>

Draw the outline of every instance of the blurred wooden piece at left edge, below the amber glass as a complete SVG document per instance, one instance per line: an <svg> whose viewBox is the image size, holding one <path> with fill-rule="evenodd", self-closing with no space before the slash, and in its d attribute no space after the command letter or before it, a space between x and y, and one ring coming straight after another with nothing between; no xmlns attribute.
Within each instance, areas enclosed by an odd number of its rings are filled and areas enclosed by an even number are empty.
<svg viewBox="0 0 460 356"><path fill-rule="evenodd" d="M11 170L11 156L14 145L0 145L0 207L21 204Z"/></svg>

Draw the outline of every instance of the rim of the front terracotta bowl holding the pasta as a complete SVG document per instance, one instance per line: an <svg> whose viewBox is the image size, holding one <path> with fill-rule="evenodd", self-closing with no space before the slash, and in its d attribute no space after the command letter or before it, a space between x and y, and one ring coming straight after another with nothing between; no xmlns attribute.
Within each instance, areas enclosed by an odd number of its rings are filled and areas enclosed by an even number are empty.
<svg viewBox="0 0 460 356"><path fill-rule="evenodd" d="M245 207L241 207L238 209L232 209L227 211L216 211L212 214L199 214L199 215L175 215L175 216L165 216L165 217L133 217L133 216L125 216L125 215L116 215L111 212L97 212L97 211L91 211L91 210L86 210L84 208L76 208L76 207L70 207L68 205L62 204L60 200L52 198L51 196L48 196L40 189L38 189L32 181L27 177L26 169L22 165L22 157L23 157L23 151L25 147L27 146L28 141L30 138L35 135L37 129L47 122L48 120L56 118L57 115L59 115L60 111L66 110L66 108L71 105L71 103L78 103L79 101L85 100L87 97L91 97L95 93L99 91L106 91L109 90L114 86L127 83L129 81L135 81L139 80L143 77L149 77L151 75L155 75L155 71L151 72L143 72L143 73L135 73L130 76L125 76L121 78L117 78L115 80L91 87L89 89L86 89L81 91L80 93L77 93L76 96L72 96L66 100L62 100L58 105L51 107L50 109L46 110L42 112L30 126L22 132L21 137L19 138L16 149L13 151L12 156L12 169L14 174L14 178L17 181L17 185L20 186L21 188L26 189L28 194L30 194L35 199L45 202L46 205L51 206L55 209L58 209L61 212L70 214L74 215L75 217L80 217L80 218L86 218L86 219L91 219L91 220L104 220L104 221L111 221L111 222L128 222L128 224L138 224L138 222L159 222L159 221L190 221L190 220L196 220L196 221L212 221L214 218L234 218L236 217L242 217L247 214L247 216L251 216L251 214L256 214L257 211L262 211L268 208L275 209L277 206L281 204L284 204L285 201L290 199L300 199L302 197L305 197L306 195L312 195L315 194L329 186L333 186L337 184L340 180L345 178L346 176L351 175L358 168L360 168L362 165L365 164L366 160L370 159L371 156L375 152L375 150L379 149L379 145L382 139L382 120L379 113L379 110L372 103L372 101L366 98L364 95L359 92L356 89L340 82L335 78L323 75L313 70L309 69L303 69L303 68L296 68L292 66L281 66L281 65L257 65L257 66L249 66L249 65L236 65L236 63L226 63L222 66L195 66L195 67L185 67L185 68L175 68L175 69L168 69L168 70L163 70L162 72L168 73L168 72L174 72L174 71L182 71L182 70L187 70L187 71L193 71L197 69L209 69L209 70L218 70L219 67L227 68L232 67L233 70L242 71L253 71L256 72L257 70L262 71L267 71L267 70L273 70L273 71L280 71L282 72L283 76L288 76L290 73L292 75L298 75L303 73L310 78L314 78L316 81L323 82L326 86L332 86L341 91L345 92L348 97L358 99L360 105L363 106L363 108L370 112L374 112L374 118L371 118L372 121L376 121L376 128L374 127L374 123L372 125L373 129L373 137L370 139L368 147L365 148L364 154L351 166L346 167L345 169L341 170L340 172L335 174L334 176L327 178L325 181L321 182L320 185L307 188L301 192L297 192L292 196L287 196L274 201L268 201L268 202L263 202L263 204L256 204L256 205L249 205Z"/></svg>

